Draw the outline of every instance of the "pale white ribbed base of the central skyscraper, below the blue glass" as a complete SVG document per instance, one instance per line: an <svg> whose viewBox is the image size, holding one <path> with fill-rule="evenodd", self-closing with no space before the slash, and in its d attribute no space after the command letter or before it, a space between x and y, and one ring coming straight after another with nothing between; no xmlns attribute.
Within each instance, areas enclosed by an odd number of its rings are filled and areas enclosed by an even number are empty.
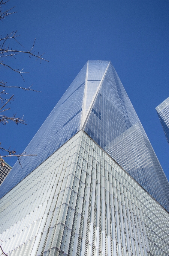
<svg viewBox="0 0 169 256"><path fill-rule="evenodd" d="M11 256L169 255L169 213L79 131L0 200Z"/></svg>

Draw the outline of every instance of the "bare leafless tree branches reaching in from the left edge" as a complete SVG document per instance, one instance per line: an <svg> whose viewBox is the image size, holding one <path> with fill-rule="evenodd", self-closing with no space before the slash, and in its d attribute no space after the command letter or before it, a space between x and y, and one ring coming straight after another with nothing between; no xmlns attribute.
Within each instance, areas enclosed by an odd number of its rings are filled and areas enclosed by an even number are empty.
<svg viewBox="0 0 169 256"><path fill-rule="evenodd" d="M10 0L0 0L0 21L3 21L4 18L8 17L11 14L16 13L16 12L13 12L13 8L15 6L13 6L12 8L6 9L5 11L2 10L2 7L6 6L6 4L9 1ZM24 46L21 43L18 42L19 35L17 35L16 33L17 33L17 30L7 34L6 36L0 36L0 65L1 65L0 67L1 68L4 67L7 70L11 70L13 72L18 73L19 75L21 75L22 79L24 80L23 74L28 73L28 72L23 72L23 69L15 69L15 67L10 66L10 64L7 63L7 59L9 57L10 58L16 58L16 55L23 54L23 55L28 55L29 58L35 57L36 60L40 59L40 62L41 61L47 61L47 60L42 57L44 53L39 54L39 52L37 52L37 53L34 52L34 44L35 44L36 39L34 40L33 46L31 47L30 50L24 50L23 49ZM13 46L13 43L14 43L14 46ZM17 43L17 44L15 45L15 43ZM12 47L11 47L11 44L12 44ZM23 48L19 48L19 47L23 47ZM36 91L36 90L33 90L31 88L31 86L28 87L28 88L20 87L20 86L17 86L17 85L16 86L13 86L13 85L8 86L7 82L4 82L3 80L0 81L0 87L5 88L5 89L19 88L19 89L22 89L24 91ZM14 114L12 117L9 117L9 116L6 116L5 114L3 114L4 111L10 110L10 108L6 108L6 105L11 103L11 101L13 101L13 99L14 99L13 98L14 95L10 96L9 98L7 97L7 95L8 95L8 93L5 90L2 90L0 92L0 123L2 123L3 125L6 125L7 123L9 123L9 121L11 121L11 122L15 122L16 124L22 123L22 124L26 125L25 120L23 119L24 116L19 118L19 117L16 117L16 114ZM24 152L22 154L15 154L16 151L15 150L10 150L10 148L9 149L4 149L4 148L0 147L0 149L2 151L5 151L5 152L8 153L7 155L2 155L2 156L0 155L0 164L1 165L5 165L4 160L3 160L4 157L13 157L13 156L15 156L15 157L18 158L19 164L21 165L20 157L30 156L30 155L26 155L26 152ZM1 250L2 250L2 248L1 248ZM3 252L3 250L2 250L2 252ZM7 254L5 254L4 252L3 252L3 255L7 256Z"/></svg>

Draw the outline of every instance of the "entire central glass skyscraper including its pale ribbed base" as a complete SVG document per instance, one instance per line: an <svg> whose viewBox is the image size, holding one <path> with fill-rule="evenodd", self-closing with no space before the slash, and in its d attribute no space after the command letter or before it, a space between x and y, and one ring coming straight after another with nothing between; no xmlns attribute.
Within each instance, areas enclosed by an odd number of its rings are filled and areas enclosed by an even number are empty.
<svg viewBox="0 0 169 256"><path fill-rule="evenodd" d="M110 61L85 64L25 151L0 187L6 253L168 255L169 183Z"/></svg>

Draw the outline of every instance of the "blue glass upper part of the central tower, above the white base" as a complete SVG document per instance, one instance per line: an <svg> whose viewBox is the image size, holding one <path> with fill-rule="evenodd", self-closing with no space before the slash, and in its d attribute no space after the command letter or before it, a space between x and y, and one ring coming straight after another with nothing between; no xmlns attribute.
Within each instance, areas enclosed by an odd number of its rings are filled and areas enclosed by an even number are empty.
<svg viewBox="0 0 169 256"><path fill-rule="evenodd" d="M0 197L79 130L85 131L165 209L169 183L110 61L88 61L3 182ZM43 138L43 139L42 139Z"/></svg>

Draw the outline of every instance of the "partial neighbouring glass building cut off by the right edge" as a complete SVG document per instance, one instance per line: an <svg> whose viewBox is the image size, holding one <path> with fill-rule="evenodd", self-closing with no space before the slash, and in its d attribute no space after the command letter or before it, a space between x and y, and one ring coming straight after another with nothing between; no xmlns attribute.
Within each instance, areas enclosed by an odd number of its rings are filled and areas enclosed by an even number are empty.
<svg viewBox="0 0 169 256"><path fill-rule="evenodd" d="M169 144L169 97L158 105L156 110Z"/></svg>

